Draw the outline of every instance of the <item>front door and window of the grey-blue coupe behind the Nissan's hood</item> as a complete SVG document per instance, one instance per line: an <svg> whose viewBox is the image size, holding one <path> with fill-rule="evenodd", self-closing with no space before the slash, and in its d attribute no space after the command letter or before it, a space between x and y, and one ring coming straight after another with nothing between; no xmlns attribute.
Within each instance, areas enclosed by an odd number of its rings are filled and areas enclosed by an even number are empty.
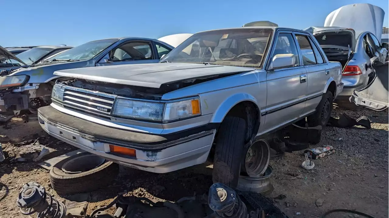
<svg viewBox="0 0 389 218"><path fill-rule="evenodd" d="M153 51L151 42L124 42L105 54L96 66L158 63Z"/></svg>

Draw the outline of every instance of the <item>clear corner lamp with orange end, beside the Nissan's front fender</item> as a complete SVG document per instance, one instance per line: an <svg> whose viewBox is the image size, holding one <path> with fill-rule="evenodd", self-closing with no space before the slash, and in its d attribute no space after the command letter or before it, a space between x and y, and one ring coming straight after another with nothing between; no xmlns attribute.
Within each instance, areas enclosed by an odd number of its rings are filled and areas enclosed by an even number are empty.
<svg viewBox="0 0 389 218"><path fill-rule="evenodd" d="M183 101L166 103L165 113L163 114L163 121L173 121L178 119L185 119L201 114L200 99L188 99Z"/></svg>

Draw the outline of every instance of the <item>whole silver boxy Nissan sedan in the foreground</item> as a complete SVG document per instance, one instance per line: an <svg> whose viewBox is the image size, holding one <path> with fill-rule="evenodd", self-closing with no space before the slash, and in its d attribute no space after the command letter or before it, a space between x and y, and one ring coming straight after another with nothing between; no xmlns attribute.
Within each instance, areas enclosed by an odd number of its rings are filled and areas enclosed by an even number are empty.
<svg viewBox="0 0 389 218"><path fill-rule="evenodd" d="M196 33L157 64L54 74L68 79L38 109L50 135L156 173L209 159L214 180L232 187L241 166L255 177L268 164L266 141L254 139L306 117L325 126L343 88L341 64L310 33L278 27Z"/></svg>

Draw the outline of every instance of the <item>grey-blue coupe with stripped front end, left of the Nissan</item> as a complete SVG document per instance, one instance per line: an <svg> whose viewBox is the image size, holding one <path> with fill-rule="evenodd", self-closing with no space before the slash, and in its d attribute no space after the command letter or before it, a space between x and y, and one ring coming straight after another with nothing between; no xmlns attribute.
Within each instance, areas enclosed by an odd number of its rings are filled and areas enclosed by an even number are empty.
<svg viewBox="0 0 389 218"><path fill-rule="evenodd" d="M60 52L32 67L17 69L0 77L0 111L37 108L51 102L51 90L60 76L54 71L91 66L157 63L173 47L148 38L111 38L97 40ZM20 55L22 55L21 53ZM7 89L7 90L4 90Z"/></svg>

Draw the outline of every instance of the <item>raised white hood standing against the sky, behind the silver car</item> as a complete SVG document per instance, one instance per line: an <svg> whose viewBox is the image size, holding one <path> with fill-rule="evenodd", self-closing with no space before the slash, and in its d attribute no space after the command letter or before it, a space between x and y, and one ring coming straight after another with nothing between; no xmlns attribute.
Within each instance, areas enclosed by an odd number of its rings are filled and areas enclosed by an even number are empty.
<svg viewBox="0 0 389 218"><path fill-rule="evenodd" d="M324 26L354 29L356 36L369 31L380 42L384 16L384 10L378 6L367 3L351 4L342 6L328 14Z"/></svg>

